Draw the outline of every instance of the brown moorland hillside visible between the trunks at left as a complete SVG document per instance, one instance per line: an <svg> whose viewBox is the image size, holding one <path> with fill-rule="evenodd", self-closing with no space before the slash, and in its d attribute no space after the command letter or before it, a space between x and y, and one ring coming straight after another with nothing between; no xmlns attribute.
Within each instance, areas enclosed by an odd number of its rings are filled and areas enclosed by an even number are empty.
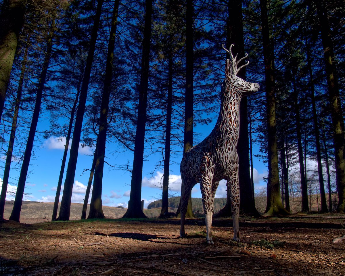
<svg viewBox="0 0 345 276"><path fill-rule="evenodd" d="M9 219L14 201L6 201L4 218ZM44 203L37 201L23 201L22 209L20 212L21 223L39 223L43 221L50 221L53 212L54 203ZM81 203L72 203L70 220L77 220L81 217L81 210L83 205ZM60 204L58 207L58 214L60 210ZM88 205L86 217L89 214L90 205ZM126 213L126 208L103 206L103 213L106 218L120 218Z"/></svg>

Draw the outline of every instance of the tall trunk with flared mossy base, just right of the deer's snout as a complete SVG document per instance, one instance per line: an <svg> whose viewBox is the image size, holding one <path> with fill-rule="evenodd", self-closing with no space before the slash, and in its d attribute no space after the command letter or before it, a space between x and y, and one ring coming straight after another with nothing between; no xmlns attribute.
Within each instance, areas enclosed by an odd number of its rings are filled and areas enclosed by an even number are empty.
<svg viewBox="0 0 345 276"><path fill-rule="evenodd" d="M287 215L288 211L280 200L276 107L275 107L275 75L274 75L274 49L269 37L267 14L267 0L260 0L262 42L264 49L265 86L266 86L266 115L267 115L267 154L268 154L268 182L267 206L264 216Z"/></svg>

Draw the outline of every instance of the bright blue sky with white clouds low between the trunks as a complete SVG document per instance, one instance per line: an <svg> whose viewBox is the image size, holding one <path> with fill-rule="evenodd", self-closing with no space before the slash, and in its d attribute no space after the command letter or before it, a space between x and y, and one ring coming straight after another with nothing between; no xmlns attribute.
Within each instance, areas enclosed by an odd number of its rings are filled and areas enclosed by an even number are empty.
<svg viewBox="0 0 345 276"><path fill-rule="evenodd" d="M40 122L44 124L44 122ZM205 135L198 135L199 141L202 141L214 127L215 121L208 126L197 126L195 132L203 133ZM42 125L40 128L44 128ZM63 148L65 146L65 138L50 137L43 141L42 145L37 146L35 149L36 157L31 159L29 171L27 177L27 183L25 187L24 196L25 200L31 201L43 201L53 202L56 195L56 186L61 168L61 158L63 154ZM199 142L195 141L195 143ZM110 152L115 145L107 145L107 151ZM75 183L73 185L72 202L82 203L85 197L85 190L89 178L89 171L82 172L84 169L91 167L92 162L92 148L80 147L78 155L78 163L76 169ZM257 153L258 149L254 148L254 153ZM67 156L67 161L68 161ZM152 171L155 169L160 154L150 155L148 161L144 161L143 178L142 178L142 199L144 199L144 206L161 197L160 183L162 182L162 170L156 170L153 175ZM179 164L181 156L172 157L171 161L175 161L176 164L170 166L170 179L169 188L170 195L179 195L181 189L181 178L179 172ZM130 151L118 153L116 156L108 154L107 161L110 164L123 165L129 162L132 165L133 154ZM4 160L3 160L4 162ZM254 158L254 178L255 188L265 187L266 183L263 181L263 176L267 175L267 168L258 159ZM67 166L66 166L67 167ZM66 168L65 168L66 173ZM2 184L1 171L1 180ZM11 169L10 178L11 183L8 187L7 200L14 199L13 194L10 192L16 190L16 181L19 173L16 170ZM123 206L127 207L129 200L131 174L125 170L114 169L105 164L103 173L103 186L102 186L102 203L106 206ZM63 189L62 189L63 190ZM60 201L62 198L62 190L60 194ZM193 197L201 197L199 186L196 185L192 191ZM225 181L221 181L216 197L226 197L226 184ZM89 200L91 199L91 195Z"/></svg>

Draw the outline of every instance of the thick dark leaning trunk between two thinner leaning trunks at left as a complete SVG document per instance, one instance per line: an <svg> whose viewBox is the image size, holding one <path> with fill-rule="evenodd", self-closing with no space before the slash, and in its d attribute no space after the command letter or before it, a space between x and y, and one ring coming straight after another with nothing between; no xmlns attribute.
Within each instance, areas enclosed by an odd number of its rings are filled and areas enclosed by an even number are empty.
<svg viewBox="0 0 345 276"><path fill-rule="evenodd" d="M68 165L67 165L65 186L63 188L59 217L57 218L57 220L69 220L69 215L70 215L70 210L71 210L72 189L73 189L74 177L76 174L81 128L83 124L86 98L87 98L89 80L90 80L90 75L91 75L93 55L95 53L97 32L98 32L99 21L100 21L100 16L101 16L101 11L102 11L102 4L103 4L103 0L97 1L97 11L95 15L95 21L93 23L92 32L91 32L91 39L90 39L90 46L89 46L90 48L89 48L89 52L88 52L88 56L86 60L84 77L83 77L83 82L82 82L81 90L80 90L78 110L77 110L74 130L73 130L70 156L69 156Z"/></svg>

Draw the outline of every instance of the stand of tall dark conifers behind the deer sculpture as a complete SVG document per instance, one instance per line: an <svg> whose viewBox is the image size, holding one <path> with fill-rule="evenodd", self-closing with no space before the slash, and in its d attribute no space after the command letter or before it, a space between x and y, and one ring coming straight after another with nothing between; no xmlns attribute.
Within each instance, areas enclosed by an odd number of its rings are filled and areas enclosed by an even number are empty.
<svg viewBox="0 0 345 276"><path fill-rule="evenodd" d="M210 123L219 110L223 43L235 44L239 58L248 52L250 63L239 73L260 83L259 93L240 105L242 212L258 215L255 146L268 167L265 215L289 214L291 197L308 212L315 192L322 212L333 210L332 193L337 211L345 211L344 6L344 0L2 1L0 217L17 169L10 219L19 221L34 146L52 136L65 142L52 219L69 219L80 144L95 147L81 218L91 185L89 218L104 217L110 146L132 158L109 164L132 175L125 217L145 217L142 166L150 156L159 156L152 166L164 170L166 212L171 159L197 144L194 126ZM50 128L37 129L48 118ZM228 196L221 214L230 209Z"/></svg>

